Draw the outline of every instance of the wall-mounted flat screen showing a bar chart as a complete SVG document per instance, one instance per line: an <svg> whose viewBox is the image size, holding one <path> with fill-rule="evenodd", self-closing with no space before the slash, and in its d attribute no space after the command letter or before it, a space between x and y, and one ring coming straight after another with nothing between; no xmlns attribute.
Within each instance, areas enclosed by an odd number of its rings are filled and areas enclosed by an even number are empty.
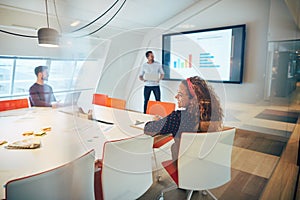
<svg viewBox="0 0 300 200"><path fill-rule="evenodd" d="M242 83L245 37L245 24L164 34L164 79Z"/></svg>

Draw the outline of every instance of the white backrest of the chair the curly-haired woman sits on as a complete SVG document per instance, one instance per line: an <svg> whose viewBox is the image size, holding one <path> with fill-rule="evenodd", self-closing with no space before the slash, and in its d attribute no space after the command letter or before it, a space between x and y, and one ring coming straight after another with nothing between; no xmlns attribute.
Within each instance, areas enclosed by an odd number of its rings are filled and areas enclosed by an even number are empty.
<svg viewBox="0 0 300 200"><path fill-rule="evenodd" d="M178 156L179 188L206 190L231 179L235 129L210 133L182 133Z"/></svg>

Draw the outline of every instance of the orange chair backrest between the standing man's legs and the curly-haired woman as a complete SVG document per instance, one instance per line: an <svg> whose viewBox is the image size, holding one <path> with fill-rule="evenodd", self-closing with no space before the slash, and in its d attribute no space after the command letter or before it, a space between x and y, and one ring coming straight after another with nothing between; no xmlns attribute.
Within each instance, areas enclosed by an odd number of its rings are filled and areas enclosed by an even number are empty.
<svg viewBox="0 0 300 200"><path fill-rule="evenodd" d="M175 110L175 103L161 102L161 101L148 101L147 114L159 115L165 117Z"/></svg>

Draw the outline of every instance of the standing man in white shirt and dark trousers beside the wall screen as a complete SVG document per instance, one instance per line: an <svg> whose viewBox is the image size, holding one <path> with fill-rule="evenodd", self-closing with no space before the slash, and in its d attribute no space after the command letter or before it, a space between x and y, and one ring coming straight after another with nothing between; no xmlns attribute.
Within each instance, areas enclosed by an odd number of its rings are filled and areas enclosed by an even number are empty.
<svg viewBox="0 0 300 200"><path fill-rule="evenodd" d="M164 78L164 71L159 62L154 61L152 51L146 52L147 62L143 64L139 73L139 79L145 82L144 87L144 113L147 110L147 104L153 91L155 100L160 101L159 81ZM144 76L145 75L145 76ZM157 79L155 79L157 77Z"/></svg>

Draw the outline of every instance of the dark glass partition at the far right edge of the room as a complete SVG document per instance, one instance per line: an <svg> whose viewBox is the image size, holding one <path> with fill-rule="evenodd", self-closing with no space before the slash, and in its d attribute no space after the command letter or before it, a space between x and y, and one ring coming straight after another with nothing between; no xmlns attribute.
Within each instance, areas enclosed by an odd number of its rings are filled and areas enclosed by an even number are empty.
<svg viewBox="0 0 300 200"><path fill-rule="evenodd" d="M269 43L265 99L270 103L295 103L300 81L300 40Z"/></svg>

